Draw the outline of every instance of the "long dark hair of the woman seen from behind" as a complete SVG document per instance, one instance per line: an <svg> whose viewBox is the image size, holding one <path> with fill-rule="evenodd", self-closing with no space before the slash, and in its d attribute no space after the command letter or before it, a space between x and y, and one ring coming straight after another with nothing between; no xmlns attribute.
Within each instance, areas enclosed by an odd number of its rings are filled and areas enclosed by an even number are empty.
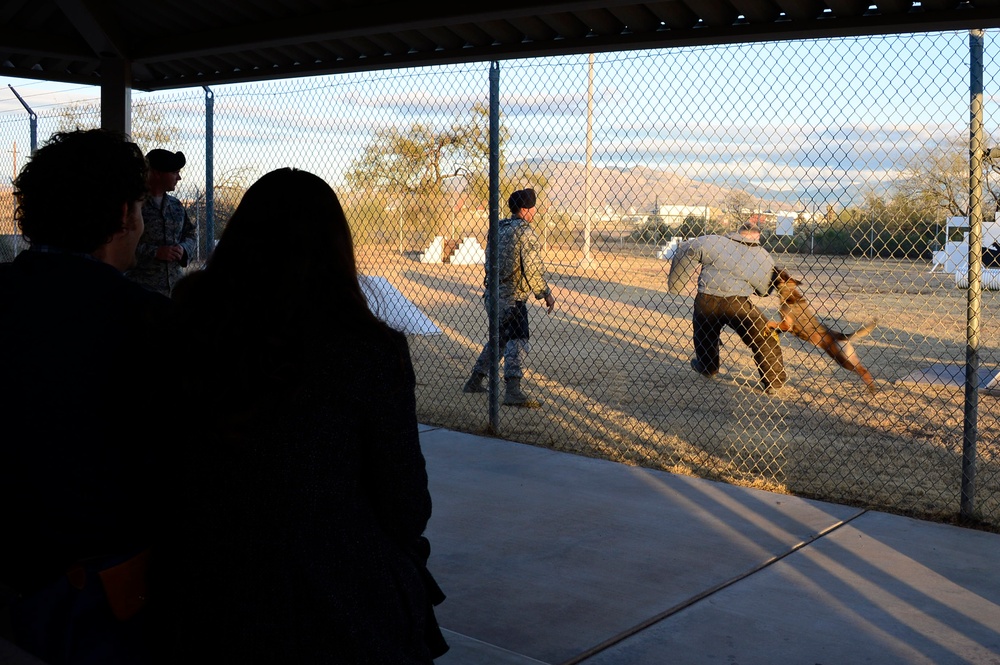
<svg viewBox="0 0 1000 665"><path fill-rule="evenodd" d="M181 280L173 298L179 330L222 341L194 388L220 413L290 394L331 340L389 334L358 282L337 195L296 169L272 171L247 190L205 270Z"/></svg>

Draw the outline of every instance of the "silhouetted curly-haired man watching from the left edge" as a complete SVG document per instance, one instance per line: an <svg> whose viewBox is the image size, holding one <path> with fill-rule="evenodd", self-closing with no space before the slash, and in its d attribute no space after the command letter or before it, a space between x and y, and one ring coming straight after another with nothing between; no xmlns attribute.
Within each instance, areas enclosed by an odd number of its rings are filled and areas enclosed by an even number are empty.
<svg viewBox="0 0 1000 665"><path fill-rule="evenodd" d="M153 424L140 347L169 301L128 281L142 153L54 135L14 182L30 248L0 264L0 575L14 640L50 665L148 662L143 574Z"/></svg>

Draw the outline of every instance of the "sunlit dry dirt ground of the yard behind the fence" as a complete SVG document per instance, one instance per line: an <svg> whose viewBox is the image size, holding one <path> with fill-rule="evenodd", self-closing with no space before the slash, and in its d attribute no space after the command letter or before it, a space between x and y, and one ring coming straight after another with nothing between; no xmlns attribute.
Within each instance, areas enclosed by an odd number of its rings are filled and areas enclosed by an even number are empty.
<svg viewBox="0 0 1000 665"><path fill-rule="evenodd" d="M904 379L933 364L964 366L967 291L923 262L778 255L832 328L879 324L856 347L879 392L820 350L782 336L789 381L756 386L753 359L723 334L724 374L691 371L691 303L666 292L669 262L649 248L547 252L556 310L530 306L525 383L539 409L500 407L505 439L779 492L952 520L963 491L962 387ZM422 422L483 433L483 395L461 392L486 340L482 266L422 264L391 247L359 248L362 273L387 277L443 334L411 337ZM759 305L777 318L776 298ZM1000 367L1000 293L983 293L980 366ZM997 394L1000 394L998 391ZM977 395L966 483L978 517L1000 528L998 397ZM972 491L974 490L974 494Z"/></svg>

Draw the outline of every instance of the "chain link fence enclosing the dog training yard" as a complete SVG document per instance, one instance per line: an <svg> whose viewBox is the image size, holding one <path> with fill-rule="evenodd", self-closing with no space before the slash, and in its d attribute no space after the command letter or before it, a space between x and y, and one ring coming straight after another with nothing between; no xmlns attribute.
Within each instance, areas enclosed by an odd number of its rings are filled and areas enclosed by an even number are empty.
<svg viewBox="0 0 1000 665"><path fill-rule="evenodd" d="M1000 139L995 37L985 122ZM546 314L529 302L524 384L541 407L501 407L499 435L951 520L971 422L976 518L1000 528L1000 179L989 165L975 321L983 390L963 388L969 60L969 34L952 32L500 63L500 200L538 191L534 227L557 304ZM486 431L490 414L486 395L462 392L487 339L489 70L136 94L133 119L143 149L187 155L177 194L206 253L258 176L296 166L326 178L360 270L384 278L367 282L373 301L418 331L421 421L470 432ZM39 136L67 119L96 124L95 105L68 108L42 109ZM14 168L27 135L26 114L0 114L0 144L18 145ZM0 196L9 258L9 188ZM752 354L728 329L723 373L692 371L695 285L668 293L669 259L684 239L746 221L829 328L877 319L853 343L877 392L789 334L778 395L760 390ZM280 219L274 242L281 251ZM779 319L775 296L753 301Z"/></svg>

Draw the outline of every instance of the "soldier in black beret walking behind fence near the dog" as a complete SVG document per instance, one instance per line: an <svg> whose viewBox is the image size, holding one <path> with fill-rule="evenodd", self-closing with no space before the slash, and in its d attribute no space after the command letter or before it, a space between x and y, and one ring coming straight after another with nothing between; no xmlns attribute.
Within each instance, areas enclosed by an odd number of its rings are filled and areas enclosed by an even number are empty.
<svg viewBox="0 0 1000 665"><path fill-rule="evenodd" d="M552 290L545 281L545 265L542 262L538 236L531 226L535 218L535 203L533 189L520 189L511 194L507 199L511 216L500 221L497 231L500 351L503 354L505 384L503 403L510 406L538 405L521 388L522 359L529 350L528 308L525 304L528 296L533 295L536 300L544 299L549 313L556 304ZM488 287L489 279L490 266L487 265L484 286ZM489 310L488 290L483 298ZM462 388L463 392L486 392L483 380L489 373L489 357L487 343L472 368L472 375Z"/></svg>

